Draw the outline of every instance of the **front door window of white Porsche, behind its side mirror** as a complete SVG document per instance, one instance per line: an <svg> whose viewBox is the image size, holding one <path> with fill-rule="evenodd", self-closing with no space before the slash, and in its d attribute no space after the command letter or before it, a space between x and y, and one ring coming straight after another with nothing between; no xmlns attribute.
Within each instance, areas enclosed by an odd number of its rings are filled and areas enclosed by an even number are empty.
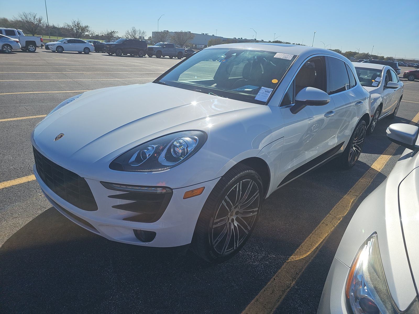
<svg viewBox="0 0 419 314"><path fill-rule="evenodd" d="M345 69L346 72L346 69ZM348 82L349 83L349 82ZM314 87L326 92L326 60L323 56L309 59L298 71L285 93L280 106L295 103L295 95L305 87Z"/></svg>

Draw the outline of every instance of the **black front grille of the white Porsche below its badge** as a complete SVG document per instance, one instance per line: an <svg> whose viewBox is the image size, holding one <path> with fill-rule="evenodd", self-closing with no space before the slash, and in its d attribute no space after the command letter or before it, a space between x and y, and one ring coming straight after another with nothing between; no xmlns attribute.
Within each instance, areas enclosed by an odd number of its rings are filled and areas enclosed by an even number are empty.
<svg viewBox="0 0 419 314"><path fill-rule="evenodd" d="M35 165L41 180L63 200L85 211L98 206L86 180L39 153L34 147Z"/></svg>

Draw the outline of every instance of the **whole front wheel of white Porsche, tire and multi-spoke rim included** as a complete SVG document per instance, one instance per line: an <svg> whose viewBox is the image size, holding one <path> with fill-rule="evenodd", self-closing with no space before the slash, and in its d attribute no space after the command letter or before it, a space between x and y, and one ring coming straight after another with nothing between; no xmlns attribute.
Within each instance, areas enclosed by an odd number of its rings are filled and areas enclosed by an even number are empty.
<svg viewBox="0 0 419 314"><path fill-rule="evenodd" d="M222 263L246 244L262 205L263 185L251 167L236 165L209 194L195 227L191 249L210 263Z"/></svg>

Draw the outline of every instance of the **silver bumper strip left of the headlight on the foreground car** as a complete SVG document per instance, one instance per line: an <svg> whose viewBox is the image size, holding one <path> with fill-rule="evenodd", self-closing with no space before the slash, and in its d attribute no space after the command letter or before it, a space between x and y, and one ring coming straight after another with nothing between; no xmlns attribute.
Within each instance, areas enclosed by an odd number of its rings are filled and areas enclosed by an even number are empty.
<svg viewBox="0 0 419 314"><path fill-rule="evenodd" d="M334 257L321 294L318 314L349 314L345 296L348 274L349 267Z"/></svg>

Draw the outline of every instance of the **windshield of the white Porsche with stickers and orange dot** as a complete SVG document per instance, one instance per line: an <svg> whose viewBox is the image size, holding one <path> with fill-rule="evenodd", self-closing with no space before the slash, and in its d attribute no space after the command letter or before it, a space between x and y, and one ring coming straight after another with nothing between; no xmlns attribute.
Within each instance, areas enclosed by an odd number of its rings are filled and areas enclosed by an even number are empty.
<svg viewBox="0 0 419 314"><path fill-rule="evenodd" d="M155 82L263 105L296 57L272 51L204 49Z"/></svg>

